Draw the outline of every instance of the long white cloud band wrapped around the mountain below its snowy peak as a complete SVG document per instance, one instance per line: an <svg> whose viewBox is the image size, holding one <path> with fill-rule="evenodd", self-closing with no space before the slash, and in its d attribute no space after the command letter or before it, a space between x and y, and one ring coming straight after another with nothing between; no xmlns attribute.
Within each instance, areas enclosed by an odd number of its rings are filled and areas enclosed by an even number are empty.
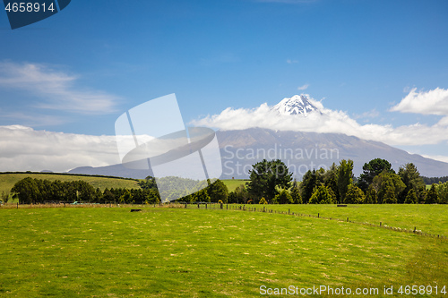
<svg viewBox="0 0 448 298"><path fill-rule="evenodd" d="M300 132L335 132L357 136L364 140L383 141L390 145L438 144L448 140L448 117L435 125L415 123L393 127L392 125L359 124L347 113L324 108L322 103L310 100L323 114L279 115L267 104L254 109L228 107L219 115L208 115L194 120L197 126L209 126L220 130L242 130L251 127Z"/></svg>

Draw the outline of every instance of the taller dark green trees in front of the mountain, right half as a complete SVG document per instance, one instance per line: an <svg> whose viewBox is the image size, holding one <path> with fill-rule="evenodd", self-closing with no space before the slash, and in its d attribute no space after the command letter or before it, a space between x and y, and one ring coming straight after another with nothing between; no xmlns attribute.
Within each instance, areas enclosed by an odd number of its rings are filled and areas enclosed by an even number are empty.
<svg viewBox="0 0 448 298"><path fill-rule="evenodd" d="M250 181L228 194L233 203L280 204L446 204L448 182L426 183L412 164L401 166L398 173L391 163L375 158L363 166L359 177L353 175L353 161L341 160L328 168L309 170L301 183L280 160L263 159L253 165Z"/></svg>

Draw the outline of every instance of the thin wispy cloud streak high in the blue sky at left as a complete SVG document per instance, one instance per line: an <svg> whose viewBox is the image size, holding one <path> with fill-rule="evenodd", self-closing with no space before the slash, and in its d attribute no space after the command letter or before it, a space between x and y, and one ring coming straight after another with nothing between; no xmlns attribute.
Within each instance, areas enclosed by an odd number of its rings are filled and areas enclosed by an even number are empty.
<svg viewBox="0 0 448 298"><path fill-rule="evenodd" d="M0 62L0 86L27 90L43 98L35 107L98 115L115 111L118 98L97 90L74 88L77 79L45 64Z"/></svg>

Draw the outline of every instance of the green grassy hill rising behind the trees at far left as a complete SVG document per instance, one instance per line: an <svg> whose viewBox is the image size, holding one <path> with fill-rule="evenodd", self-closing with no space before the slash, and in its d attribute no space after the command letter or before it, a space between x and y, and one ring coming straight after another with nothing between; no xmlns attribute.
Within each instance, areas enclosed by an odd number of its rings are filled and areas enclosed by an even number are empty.
<svg viewBox="0 0 448 298"><path fill-rule="evenodd" d="M36 173L20 173L20 174L4 174L0 173L0 193L10 192L14 184L23 178L31 177L35 179L47 179L50 181L76 181L83 180L93 185L93 187L104 191L106 188L140 188L136 181L120 178L95 177L85 175L57 175L57 174L36 174Z"/></svg>

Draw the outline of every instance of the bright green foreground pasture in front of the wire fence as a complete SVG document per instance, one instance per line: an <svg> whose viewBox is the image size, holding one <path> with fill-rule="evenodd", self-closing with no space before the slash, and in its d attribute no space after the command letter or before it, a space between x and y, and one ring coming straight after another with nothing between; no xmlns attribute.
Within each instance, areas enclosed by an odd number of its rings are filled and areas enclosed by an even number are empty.
<svg viewBox="0 0 448 298"><path fill-rule="evenodd" d="M447 241L239 210L129 211L1 209L0 296L253 297L261 285L448 285Z"/></svg>

